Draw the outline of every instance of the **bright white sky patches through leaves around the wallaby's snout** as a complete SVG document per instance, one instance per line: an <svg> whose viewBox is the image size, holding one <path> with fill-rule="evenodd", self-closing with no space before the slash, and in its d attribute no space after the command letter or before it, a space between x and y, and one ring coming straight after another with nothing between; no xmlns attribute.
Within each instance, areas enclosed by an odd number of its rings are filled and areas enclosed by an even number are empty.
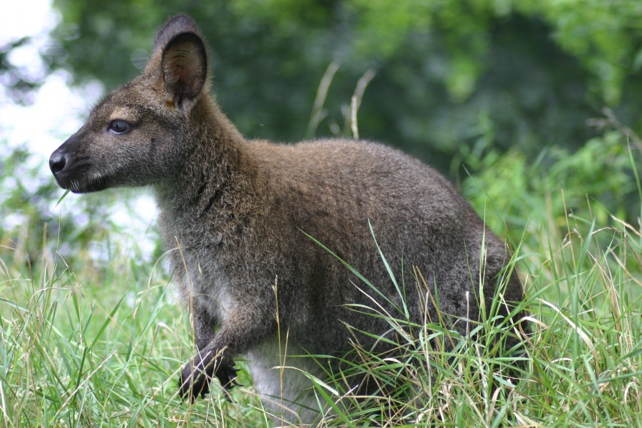
<svg viewBox="0 0 642 428"><path fill-rule="evenodd" d="M0 1L0 46L24 36L32 36L31 43L14 49L8 59L14 66L22 68L28 76L44 76L46 68L39 51L43 51L51 43L49 32L60 20L58 12L51 9L51 0ZM6 155L13 148L25 146L34 155L30 159L31 166L38 165L38 170L41 171L36 177L21 177L23 183L33 180L34 186L37 187L39 182L54 180L48 168L49 156L66 138L76 132L93 103L101 96L103 87L100 83L88 83L83 88L72 88L71 81L72 78L66 71L51 73L46 77L43 86L36 91L34 103L29 106L12 103L0 82L1 154ZM62 194L63 190L60 195ZM57 208L60 215L71 212L78 198L83 198L83 195L67 195ZM52 201L52 209L56 202L57 200ZM123 206L122 209L113 210L112 220L122 225L123 233L136 240L143 253L148 253L153 246L145 236L145 230L156 218L156 204L149 196L141 196L131 205L138 218L132 218L133 213ZM13 217L4 219L5 227L21 222L19 214ZM3 227L3 223L0 223L0 227Z"/></svg>

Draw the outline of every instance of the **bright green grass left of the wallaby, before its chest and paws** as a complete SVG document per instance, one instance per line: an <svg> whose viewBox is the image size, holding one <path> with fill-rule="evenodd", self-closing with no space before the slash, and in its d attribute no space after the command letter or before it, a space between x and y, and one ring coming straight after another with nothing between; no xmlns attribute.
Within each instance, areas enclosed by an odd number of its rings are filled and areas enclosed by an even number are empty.
<svg viewBox="0 0 642 428"><path fill-rule="evenodd" d="M58 266L68 262L46 250L33 265L11 262L22 258L0 247L4 426L223 426L241 412L222 394L210 397L225 409L218 413L175 398L191 334L162 272L148 266L148 279L132 284L136 266L122 257L108 261L113 274L102 278ZM236 426L257 426L262 415L248 407L255 401L243 404L253 419Z"/></svg>

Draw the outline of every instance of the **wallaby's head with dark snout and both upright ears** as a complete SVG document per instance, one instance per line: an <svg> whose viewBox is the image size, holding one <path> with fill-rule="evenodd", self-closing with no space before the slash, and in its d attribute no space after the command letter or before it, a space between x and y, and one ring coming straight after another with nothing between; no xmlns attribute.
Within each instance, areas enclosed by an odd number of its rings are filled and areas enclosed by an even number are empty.
<svg viewBox="0 0 642 428"><path fill-rule="evenodd" d="M194 22L179 15L156 36L141 76L98 103L51 155L58 184L84 193L175 177L190 151L190 113L204 93L207 49Z"/></svg>

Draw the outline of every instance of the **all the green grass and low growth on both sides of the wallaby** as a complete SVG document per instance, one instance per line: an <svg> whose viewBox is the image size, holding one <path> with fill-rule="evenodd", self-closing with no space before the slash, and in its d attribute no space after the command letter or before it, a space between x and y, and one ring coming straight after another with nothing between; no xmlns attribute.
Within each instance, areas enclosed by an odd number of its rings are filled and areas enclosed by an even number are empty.
<svg viewBox="0 0 642 428"><path fill-rule="evenodd" d="M439 320L409 325L400 314L381 314L402 357L355 347L359 364L332 382L316 381L317 399L332 409L320 425L642 426L640 153L626 141L605 134L573 155L539 160L485 156L484 173L462 188L516 248L511 267L526 289L529 331L494 327L492 310L469 336ZM104 260L71 257L61 254L64 235L39 226L37 240L25 228L0 239L4 426L271 423L245 370L233 402L216 387L195 404L176 396L193 344L167 255L141 263L134 241L126 241L111 242ZM429 287L415 274L396 280L427 298ZM356 276L355 286L368 287ZM523 353L498 352L504 335L522 337ZM348 377L364 372L381 389L395 389L359 395Z"/></svg>

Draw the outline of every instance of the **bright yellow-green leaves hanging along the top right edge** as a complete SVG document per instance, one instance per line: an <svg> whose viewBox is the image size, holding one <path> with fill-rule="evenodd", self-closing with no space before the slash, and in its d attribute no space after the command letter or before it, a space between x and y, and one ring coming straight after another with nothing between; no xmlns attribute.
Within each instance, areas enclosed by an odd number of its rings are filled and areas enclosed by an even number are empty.
<svg viewBox="0 0 642 428"><path fill-rule="evenodd" d="M626 78L642 65L642 36L636 31L642 7L636 0L355 0L350 4L367 34L362 43L379 48L384 56L401 48L404 37L414 31L434 29L444 34L450 55L447 87L458 99L472 94L484 72L483 57L489 52L496 21L514 14L545 21L550 36L579 59L591 76L594 93L606 103L618 103Z"/></svg>

